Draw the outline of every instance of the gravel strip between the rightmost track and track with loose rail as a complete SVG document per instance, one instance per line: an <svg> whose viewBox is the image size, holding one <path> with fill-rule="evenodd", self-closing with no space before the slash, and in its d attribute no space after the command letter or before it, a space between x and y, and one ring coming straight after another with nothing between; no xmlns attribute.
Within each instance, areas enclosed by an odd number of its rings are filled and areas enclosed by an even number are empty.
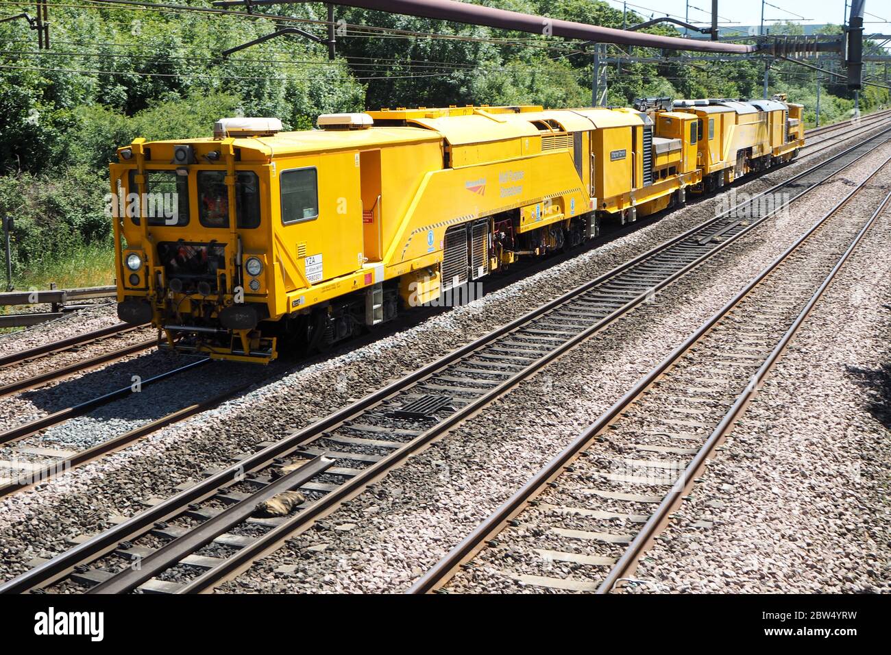
<svg viewBox="0 0 891 655"><path fill-rule="evenodd" d="M847 182L865 177L889 152L883 147L860 162L846 176ZM535 381L413 457L410 465L392 472L221 591L404 590L592 422L613 397L721 307L738 291L740 281L760 271L812 225L846 185L846 181L825 185L788 219L764 233L743 237L740 242L754 249L746 250L746 258L731 253L715 258L706 270L576 348ZM742 243L732 246L732 250L744 248ZM517 591L512 581L499 586L496 580L486 580L478 588Z"/></svg>

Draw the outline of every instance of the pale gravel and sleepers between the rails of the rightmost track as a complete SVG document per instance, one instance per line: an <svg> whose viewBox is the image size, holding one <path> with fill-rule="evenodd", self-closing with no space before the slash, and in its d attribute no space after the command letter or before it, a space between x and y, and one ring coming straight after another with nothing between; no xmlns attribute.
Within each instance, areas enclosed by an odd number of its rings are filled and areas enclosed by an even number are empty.
<svg viewBox="0 0 891 655"><path fill-rule="evenodd" d="M804 307L823 274L830 271L834 261L846 248L846 243L859 231L860 216L869 216L869 203L876 207L885 196L887 190L877 193L867 189L859 193L856 201L846 206L842 216L831 219L825 229L813 236L799 250L793 259L781 266L757 288L756 292L744 299L739 307L733 310L722 323L722 329L710 332L701 346L694 348L674 367L670 377L659 387L658 394L644 397L633 405L623 418L612 426L607 434L598 441L600 444L593 451L593 456L580 458L574 465L572 473L565 473L557 480L559 487L546 488L537 498L537 502L547 509L530 508L519 515L522 521L518 527L511 527L497 537L499 545L484 550L474 561L474 569L470 573L459 575L456 588L463 592L487 591L489 585L497 585L501 591L510 591L511 585L530 583L531 580L521 576L556 577L566 579L568 583L588 585L594 589L605 575L606 569L590 564L553 561L545 551L578 552L576 537L562 536L561 531L568 529L593 531L613 536L634 536L638 528L628 529L629 521L617 520L609 514L605 516L579 516L573 512L553 511L561 504L567 508L581 506L589 510L636 513L643 512L649 516L654 506L642 507L628 501L618 499L601 499L596 496L591 501L577 505L571 500L563 501L573 489L584 492L584 487L601 488L622 494L639 493L661 498L689 463L691 454L651 453L634 448L640 444L640 435L647 431L665 430L664 420L680 419L701 422L707 426L715 425L729 409L736 393L743 389L751 376L761 364L759 358L740 362L735 356L725 356L740 341L742 332L757 332L759 348L763 348L764 356L770 352L772 345L779 340L786 327L796 318L798 311ZM803 271L813 273L802 273ZM777 291L782 291L783 299L779 299ZM765 310L776 316L776 322L757 327L748 321L752 315L763 315ZM732 361L734 366L723 362ZM689 397L686 389L696 386L696 379L708 376L711 370L722 369L715 377L719 381L708 383L715 394L723 391L725 402L719 409L713 410L705 403ZM679 400L683 399L683 400ZM642 430L641 422L655 420L655 423ZM680 428L668 426L668 430L676 432ZM689 429L687 429L689 430ZM693 438L699 446L707 434ZM666 443L672 439L665 438ZM676 447L676 446L675 446ZM695 453L695 449L694 449ZM611 479L610 474L618 474L618 479ZM629 484L628 476L646 480L647 484ZM578 494L576 494L578 495ZM581 512L584 512L581 511ZM692 523L692 521L691 521ZM625 540L625 544L630 538ZM615 558L624 552L624 545L601 544L596 541L583 541L581 551L584 555L599 555ZM537 552L536 552L537 551ZM560 593L551 587L530 584L525 589L529 593Z"/></svg>

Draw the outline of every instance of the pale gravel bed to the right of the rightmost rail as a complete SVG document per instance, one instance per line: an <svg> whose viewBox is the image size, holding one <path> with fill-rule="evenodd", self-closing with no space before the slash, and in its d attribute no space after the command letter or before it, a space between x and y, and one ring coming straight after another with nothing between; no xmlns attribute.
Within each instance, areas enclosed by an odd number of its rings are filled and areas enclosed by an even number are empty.
<svg viewBox="0 0 891 655"><path fill-rule="evenodd" d="M625 591L891 592L889 228L849 259Z"/></svg>

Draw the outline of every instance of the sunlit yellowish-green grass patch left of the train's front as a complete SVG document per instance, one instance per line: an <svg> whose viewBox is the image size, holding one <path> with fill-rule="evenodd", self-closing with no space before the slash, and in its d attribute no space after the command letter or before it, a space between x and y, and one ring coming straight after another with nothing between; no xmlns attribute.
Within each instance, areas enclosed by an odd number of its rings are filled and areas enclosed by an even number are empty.
<svg viewBox="0 0 891 655"><path fill-rule="evenodd" d="M99 287L113 282L113 270L114 251L111 250L111 244L91 244L82 246L65 257L37 262L14 275L12 283L16 291L43 291L50 288L51 282L55 282L58 289ZM4 290L5 282L4 277Z"/></svg>

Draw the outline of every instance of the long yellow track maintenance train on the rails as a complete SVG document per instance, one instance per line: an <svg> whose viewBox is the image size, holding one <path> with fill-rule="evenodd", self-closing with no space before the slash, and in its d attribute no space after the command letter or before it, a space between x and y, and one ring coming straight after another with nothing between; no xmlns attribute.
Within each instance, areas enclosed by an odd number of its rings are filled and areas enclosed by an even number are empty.
<svg viewBox="0 0 891 655"><path fill-rule="evenodd" d="M161 345L268 362L435 302L797 155L802 106L396 109L221 119L110 166L118 314Z"/></svg>

